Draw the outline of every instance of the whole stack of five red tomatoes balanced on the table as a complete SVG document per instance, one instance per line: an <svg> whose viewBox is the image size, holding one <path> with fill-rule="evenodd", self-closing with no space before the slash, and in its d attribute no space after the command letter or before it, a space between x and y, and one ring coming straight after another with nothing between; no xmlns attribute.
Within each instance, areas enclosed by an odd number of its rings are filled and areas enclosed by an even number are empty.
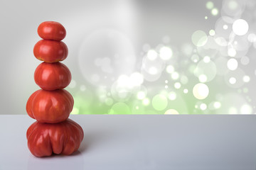
<svg viewBox="0 0 256 170"><path fill-rule="evenodd" d="M70 84L68 67L60 61L68 56L65 45L65 28L57 22L46 21L38 26L38 35L43 38L33 48L38 60L34 79L41 87L27 101L28 115L36 119L27 130L28 149L36 157L51 154L72 154L80 147L83 131L78 123L68 119L74 100L64 88Z"/></svg>

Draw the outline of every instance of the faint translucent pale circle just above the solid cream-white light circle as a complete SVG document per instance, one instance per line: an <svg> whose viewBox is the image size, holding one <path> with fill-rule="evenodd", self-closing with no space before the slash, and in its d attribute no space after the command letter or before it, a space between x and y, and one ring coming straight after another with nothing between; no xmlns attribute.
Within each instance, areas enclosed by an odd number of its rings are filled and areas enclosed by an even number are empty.
<svg viewBox="0 0 256 170"><path fill-rule="evenodd" d="M215 78L216 74L217 67L212 61L207 63L204 61L198 62L196 69L194 69L194 75L198 77L198 79L201 76L201 79L204 79L207 82L212 81Z"/></svg>

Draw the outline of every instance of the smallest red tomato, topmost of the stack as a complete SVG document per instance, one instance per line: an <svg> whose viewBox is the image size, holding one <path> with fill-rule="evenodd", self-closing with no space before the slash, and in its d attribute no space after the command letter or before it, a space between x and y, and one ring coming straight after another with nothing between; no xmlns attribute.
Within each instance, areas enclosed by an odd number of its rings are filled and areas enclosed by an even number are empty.
<svg viewBox="0 0 256 170"><path fill-rule="evenodd" d="M46 21L38 26L38 35L44 40L63 40L66 35L65 28L58 22Z"/></svg>

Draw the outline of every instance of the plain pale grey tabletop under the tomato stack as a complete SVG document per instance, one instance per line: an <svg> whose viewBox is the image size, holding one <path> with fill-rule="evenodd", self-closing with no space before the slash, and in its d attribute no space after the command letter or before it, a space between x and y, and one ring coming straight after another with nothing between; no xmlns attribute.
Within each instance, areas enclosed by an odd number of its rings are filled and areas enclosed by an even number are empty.
<svg viewBox="0 0 256 170"><path fill-rule="evenodd" d="M255 170L255 115L70 115L85 132L71 156L34 157L28 115L0 115L0 169Z"/></svg>

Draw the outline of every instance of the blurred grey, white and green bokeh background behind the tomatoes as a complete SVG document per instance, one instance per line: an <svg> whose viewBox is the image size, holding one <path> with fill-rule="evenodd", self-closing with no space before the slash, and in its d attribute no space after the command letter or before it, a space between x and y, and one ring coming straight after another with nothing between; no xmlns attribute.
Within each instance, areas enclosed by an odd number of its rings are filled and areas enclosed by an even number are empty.
<svg viewBox="0 0 256 170"><path fill-rule="evenodd" d="M256 1L1 1L0 114L39 89L43 21L65 26L72 114L254 114Z"/></svg>

